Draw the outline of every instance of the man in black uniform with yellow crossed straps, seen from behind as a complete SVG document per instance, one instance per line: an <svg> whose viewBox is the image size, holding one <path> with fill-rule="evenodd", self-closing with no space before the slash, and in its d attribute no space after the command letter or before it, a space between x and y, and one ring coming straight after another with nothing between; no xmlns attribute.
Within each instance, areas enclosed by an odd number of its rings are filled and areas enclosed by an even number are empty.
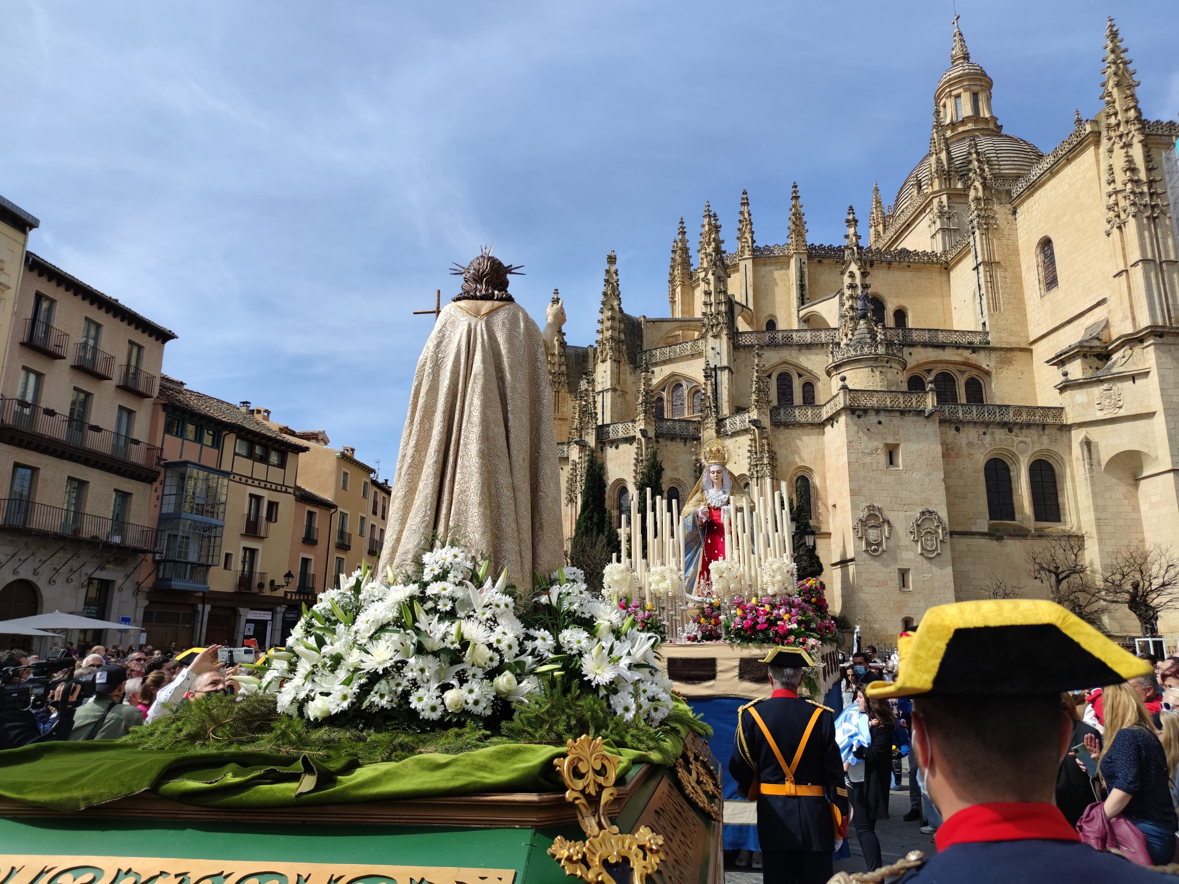
<svg viewBox="0 0 1179 884"><path fill-rule="evenodd" d="M848 829L835 713L798 697L803 667L814 666L804 651L773 648L762 662L773 693L738 711L729 772L757 799L764 884L823 884Z"/></svg>

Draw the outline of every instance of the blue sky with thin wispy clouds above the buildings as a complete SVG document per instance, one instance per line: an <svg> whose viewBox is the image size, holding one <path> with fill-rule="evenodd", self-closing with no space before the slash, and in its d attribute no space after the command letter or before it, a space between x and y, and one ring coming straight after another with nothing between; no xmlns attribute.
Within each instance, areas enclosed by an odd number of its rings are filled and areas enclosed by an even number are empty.
<svg viewBox="0 0 1179 884"><path fill-rule="evenodd" d="M1114 13L1148 119L1179 111L1179 7L977 2L1005 131L1050 150L1100 108ZM5 5L0 193L32 249L179 334L165 371L325 429L391 475L434 290L483 243L544 322L595 335L605 256L667 312L705 199L727 246L839 242L928 149L951 4Z"/></svg>

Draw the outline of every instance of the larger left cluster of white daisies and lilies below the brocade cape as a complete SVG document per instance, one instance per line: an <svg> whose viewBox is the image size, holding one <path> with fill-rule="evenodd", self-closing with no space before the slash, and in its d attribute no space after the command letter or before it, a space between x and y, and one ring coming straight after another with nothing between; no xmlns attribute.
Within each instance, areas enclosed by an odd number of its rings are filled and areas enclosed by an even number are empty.
<svg viewBox="0 0 1179 884"><path fill-rule="evenodd" d="M507 713L539 687L547 647L516 619L507 573L493 585L487 567L476 573L466 550L442 547L422 556L415 582L382 586L367 569L354 573L304 606L256 687L278 694L279 712L311 720Z"/></svg>

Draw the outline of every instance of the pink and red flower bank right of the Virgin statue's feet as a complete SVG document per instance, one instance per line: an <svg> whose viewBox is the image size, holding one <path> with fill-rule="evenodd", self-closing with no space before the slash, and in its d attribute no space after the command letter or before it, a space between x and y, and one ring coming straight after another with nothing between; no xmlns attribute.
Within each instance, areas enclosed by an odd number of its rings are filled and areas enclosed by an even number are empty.
<svg viewBox="0 0 1179 884"><path fill-rule="evenodd" d="M733 599L732 614L723 622L725 638L739 645L789 645L815 652L835 636L823 583L814 579L799 581L795 595Z"/></svg>

